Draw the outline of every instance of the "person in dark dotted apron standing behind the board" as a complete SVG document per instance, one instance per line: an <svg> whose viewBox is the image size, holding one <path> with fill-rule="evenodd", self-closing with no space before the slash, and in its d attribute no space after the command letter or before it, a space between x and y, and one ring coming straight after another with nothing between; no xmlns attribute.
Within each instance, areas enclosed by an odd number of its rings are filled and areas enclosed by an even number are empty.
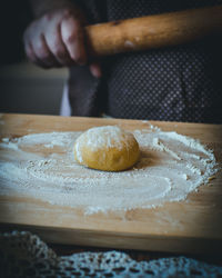
<svg viewBox="0 0 222 278"><path fill-rule="evenodd" d="M221 4L221 0L31 0L29 59L69 67L62 115L222 122L221 37L92 61L84 26Z"/></svg>

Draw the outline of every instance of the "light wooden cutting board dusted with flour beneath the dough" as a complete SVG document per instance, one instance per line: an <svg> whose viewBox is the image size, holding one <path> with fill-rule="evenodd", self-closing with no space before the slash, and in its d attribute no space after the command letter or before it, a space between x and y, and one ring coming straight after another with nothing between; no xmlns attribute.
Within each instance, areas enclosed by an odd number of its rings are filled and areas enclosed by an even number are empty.
<svg viewBox="0 0 222 278"><path fill-rule="evenodd" d="M28 133L85 130L94 126L121 125L143 129L139 120L64 118L31 115L0 115L0 137ZM222 126L151 121L162 130L200 139L222 162ZM222 172L211 186L201 186L186 201L165 203L155 209L97 214L52 206L31 198L0 197L3 227L31 230L48 242L176 252L221 252ZM26 203L26 206L23 206Z"/></svg>

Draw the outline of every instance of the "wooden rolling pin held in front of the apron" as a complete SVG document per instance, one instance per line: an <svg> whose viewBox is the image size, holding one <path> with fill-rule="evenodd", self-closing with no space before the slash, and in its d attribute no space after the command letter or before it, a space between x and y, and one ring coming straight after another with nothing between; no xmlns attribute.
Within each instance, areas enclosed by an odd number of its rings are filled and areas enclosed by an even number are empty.
<svg viewBox="0 0 222 278"><path fill-rule="evenodd" d="M91 56L174 46L222 32L222 6L85 27Z"/></svg>

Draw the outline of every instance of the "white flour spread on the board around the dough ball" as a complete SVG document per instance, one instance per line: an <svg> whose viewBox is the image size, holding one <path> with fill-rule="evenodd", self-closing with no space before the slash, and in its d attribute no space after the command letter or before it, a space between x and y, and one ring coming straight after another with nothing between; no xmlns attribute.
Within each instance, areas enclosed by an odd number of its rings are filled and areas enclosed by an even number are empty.
<svg viewBox="0 0 222 278"><path fill-rule="evenodd" d="M2 139L0 193L82 208L85 214L153 208L165 201L184 200L218 171L212 150L198 140L153 126L133 132L141 149L133 169L88 169L73 159L73 143L80 133Z"/></svg>

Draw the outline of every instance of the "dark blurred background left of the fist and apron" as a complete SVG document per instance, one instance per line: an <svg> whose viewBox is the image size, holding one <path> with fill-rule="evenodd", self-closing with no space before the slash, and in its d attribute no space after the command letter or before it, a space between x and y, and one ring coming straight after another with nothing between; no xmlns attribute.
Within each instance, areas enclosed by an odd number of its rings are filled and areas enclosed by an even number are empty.
<svg viewBox="0 0 222 278"><path fill-rule="evenodd" d="M59 115L68 70L28 62L22 36L32 20L28 0L1 1L0 112Z"/></svg>

